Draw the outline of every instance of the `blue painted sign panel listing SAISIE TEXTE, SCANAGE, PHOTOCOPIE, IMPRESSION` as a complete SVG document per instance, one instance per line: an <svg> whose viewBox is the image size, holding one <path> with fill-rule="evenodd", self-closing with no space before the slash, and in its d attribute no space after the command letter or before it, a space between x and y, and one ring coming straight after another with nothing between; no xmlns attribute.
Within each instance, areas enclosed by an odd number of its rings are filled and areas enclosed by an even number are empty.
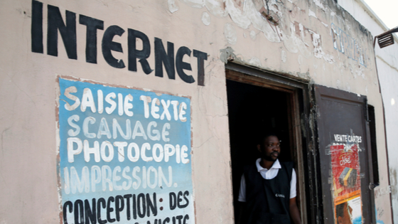
<svg viewBox="0 0 398 224"><path fill-rule="evenodd" d="M195 223L190 99L59 78L63 223Z"/></svg>

